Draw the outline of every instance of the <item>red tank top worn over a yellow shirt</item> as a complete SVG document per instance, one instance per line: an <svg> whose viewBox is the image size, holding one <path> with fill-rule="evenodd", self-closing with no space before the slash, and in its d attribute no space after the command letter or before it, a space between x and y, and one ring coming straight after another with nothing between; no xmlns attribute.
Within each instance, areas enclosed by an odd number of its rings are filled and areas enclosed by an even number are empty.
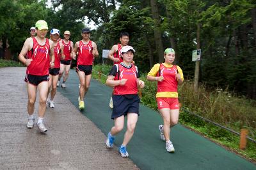
<svg viewBox="0 0 256 170"><path fill-rule="evenodd" d="M157 82L157 92L177 92L177 66L173 65L172 67L165 67L164 64L160 64L159 71L159 76L163 76L164 80Z"/></svg>

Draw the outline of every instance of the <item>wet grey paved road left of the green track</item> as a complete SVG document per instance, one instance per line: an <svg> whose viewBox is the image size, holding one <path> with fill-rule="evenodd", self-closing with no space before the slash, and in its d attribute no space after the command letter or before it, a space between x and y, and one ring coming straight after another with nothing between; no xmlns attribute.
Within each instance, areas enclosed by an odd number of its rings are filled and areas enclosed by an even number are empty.
<svg viewBox="0 0 256 170"><path fill-rule="evenodd" d="M28 95L25 67L0 68L0 169L138 169L60 92L47 108L46 135L26 129ZM38 99L35 106L38 113Z"/></svg>

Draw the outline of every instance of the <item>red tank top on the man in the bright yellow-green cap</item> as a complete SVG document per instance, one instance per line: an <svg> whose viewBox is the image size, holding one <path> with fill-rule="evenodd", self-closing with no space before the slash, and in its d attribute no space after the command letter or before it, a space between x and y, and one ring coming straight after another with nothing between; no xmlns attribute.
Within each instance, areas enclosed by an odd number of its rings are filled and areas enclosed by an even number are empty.
<svg viewBox="0 0 256 170"><path fill-rule="evenodd" d="M33 38L33 47L28 52L28 59L33 59L27 67L27 74L36 76L45 76L49 74L50 65L50 43L49 39L45 38L45 45L39 45Z"/></svg>

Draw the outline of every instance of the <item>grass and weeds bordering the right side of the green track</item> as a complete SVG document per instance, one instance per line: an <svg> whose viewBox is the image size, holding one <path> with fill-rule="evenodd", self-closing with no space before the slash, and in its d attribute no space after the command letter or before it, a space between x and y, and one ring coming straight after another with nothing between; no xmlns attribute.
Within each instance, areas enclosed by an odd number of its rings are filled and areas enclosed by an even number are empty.
<svg viewBox="0 0 256 170"><path fill-rule="evenodd" d="M96 65L95 71L108 75L112 66ZM99 75L93 71L93 78L99 80ZM142 90L141 103L157 111L156 103L156 82L150 82L146 79L147 73L141 74L141 80L145 81L145 88ZM101 76L102 83L106 83L106 76ZM193 90L193 81L186 80L179 87L179 101L182 108L193 111L194 113L212 120L218 124L224 125L234 131L239 132L245 128L250 132L248 136L255 139L256 135L256 101L237 97L227 90L216 89L207 91L204 85L200 85L198 93ZM204 120L191 115L188 111L180 111L179 123L193 129L202 136L239 153L243 157L256 162L256 144L248 141L246 150L239 149L239 136L220 127L216 127Z"/></svg>

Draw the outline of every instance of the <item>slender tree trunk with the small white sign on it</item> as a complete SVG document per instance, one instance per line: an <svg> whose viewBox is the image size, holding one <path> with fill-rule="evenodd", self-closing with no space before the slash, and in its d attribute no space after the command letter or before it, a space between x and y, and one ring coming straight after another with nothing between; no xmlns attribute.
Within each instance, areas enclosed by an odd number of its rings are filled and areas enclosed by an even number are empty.
<svg viewBox="0 0 256 170"><path fill-rule="evenodd" d="M197 31L196 31L196 48L200 49L200 24L197 24ZM195 81L194 81L194 92L198 92L198 81L199 81L199 70L200 69L200 60L196 61L195 67Z"/></svg>

